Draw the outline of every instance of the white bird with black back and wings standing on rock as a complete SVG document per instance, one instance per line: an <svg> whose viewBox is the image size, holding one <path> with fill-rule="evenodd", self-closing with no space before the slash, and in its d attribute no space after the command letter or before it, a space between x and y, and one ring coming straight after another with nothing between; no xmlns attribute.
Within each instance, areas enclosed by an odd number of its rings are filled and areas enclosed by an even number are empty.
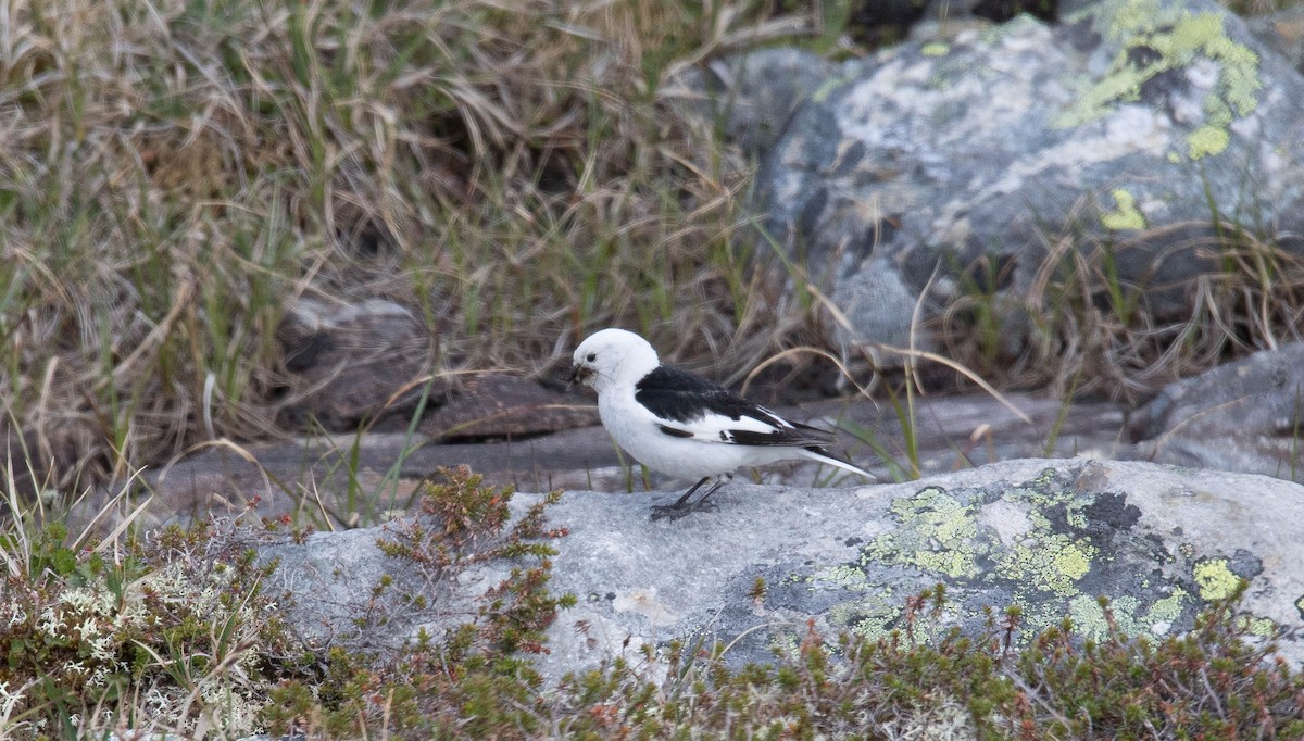
<svg viewBox="0 0 1304 741"><path fill-rule="evenodd" d="M648 468L700 480L652 519L713 509L707 497L741 466L805 458L874 480L868 471L828 450L833 433L786 420L695 373L662 364L648 340L609 327L579 343L571 384L597 391L597 412L615 442ZM716 483L691 505L707 481Z"/></svg>

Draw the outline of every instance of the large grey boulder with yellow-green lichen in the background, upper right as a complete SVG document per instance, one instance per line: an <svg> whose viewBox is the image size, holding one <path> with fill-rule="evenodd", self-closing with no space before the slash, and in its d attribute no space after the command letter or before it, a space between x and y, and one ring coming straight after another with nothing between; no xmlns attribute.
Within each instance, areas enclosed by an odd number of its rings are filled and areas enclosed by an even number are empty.
<svg viewBox="0 0 1304 741"><path fill-rule="evenodd" d="M832 284L840 339L905 346L930 280L923 318L975 286L1028 294L1065 247L1185 317L1219 230L1304 232L1301 183L1286 60L1211 1L1111 0L842 65L764 158L758 207Z"/></svg>

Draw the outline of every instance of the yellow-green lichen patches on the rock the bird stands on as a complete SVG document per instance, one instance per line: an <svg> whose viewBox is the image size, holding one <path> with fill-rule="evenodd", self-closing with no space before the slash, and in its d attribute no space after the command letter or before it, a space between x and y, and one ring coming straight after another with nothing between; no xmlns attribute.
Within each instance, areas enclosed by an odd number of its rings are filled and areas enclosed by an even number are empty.
<svg viewBox="0 0 1304 741"><path fill-rule="evenodd" d="M1082 591L1081 582L1099 561L1111 558L1102 553L1088 535L1089 507L1095 497L1078 494L1065 487L1054 470L1021 485L1007 487L1001 501L1030 505L1028 524L1013 543L1001 541L995 527L979 521L981 501L962 500L940 487L928 487L911 497L893 500L889 511L901 527L875 537L862 551L861 566L833 566L816 571L816 583L865 592L829 611L831 622L871 639L885 638L901 617L900 607L888 604L872 582L875 565L906 566L930 577L968 582L971 588L986 586L1009 591L1012 604L1024 608L1024 626L1042 630L1068 616L1076 630L1086 637L1107 634L1110 621L1124 634L1166 635L1179 625L1183 614L1194 607L1196 596L1176 587L1166 578L1140 579L1140 594L1167 594L1149 605L1134 596L1108 595L1110 620L1106 618L1095 594ZM1194 552L1189 543L1178 551L1187 557ZM1240 583L1226 558L1205 558L1193 566L1200 597L1217 600L1231 596ZM962 587L964 588L964 587ZM1296 607L1304 612L1304 596ZM974 608L965 608L960 620L979 618ZM1269 635L1277 625L1253 617L1247 626L1258 635ZM935 628L917 628L917 634Z"/></svg>

